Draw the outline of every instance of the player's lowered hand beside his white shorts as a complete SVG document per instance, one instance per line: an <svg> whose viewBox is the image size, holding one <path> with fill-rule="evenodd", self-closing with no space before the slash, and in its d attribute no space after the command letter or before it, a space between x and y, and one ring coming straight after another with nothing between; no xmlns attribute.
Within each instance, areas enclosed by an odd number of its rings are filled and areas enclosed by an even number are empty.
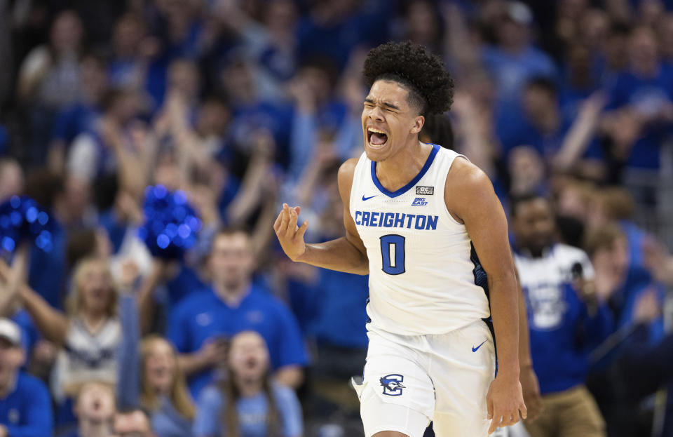
<svg viewBox="0 0 673 437"><path fill-rule="evenodd" d="M488 418L491 419L489 434L498 427L519 422L519 411L524 419L528 415L519 378L498 374L489 386L486 402L489 410Z"/></svg>

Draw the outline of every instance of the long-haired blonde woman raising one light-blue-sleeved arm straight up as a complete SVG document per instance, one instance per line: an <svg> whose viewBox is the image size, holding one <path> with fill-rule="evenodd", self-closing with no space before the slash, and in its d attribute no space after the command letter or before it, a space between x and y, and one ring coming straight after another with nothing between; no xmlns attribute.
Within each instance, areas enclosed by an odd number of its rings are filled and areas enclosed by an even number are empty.
<svg viewBox="0 0 673 437"><path fill-rule="evenodd" d="M122 290L129 288L122 281ZM158 335L140 341L140 319L132 293L121 295L120 318L120 408L140 405L147 410L157 437L190 437L194 405L175 348Z"/></svg>

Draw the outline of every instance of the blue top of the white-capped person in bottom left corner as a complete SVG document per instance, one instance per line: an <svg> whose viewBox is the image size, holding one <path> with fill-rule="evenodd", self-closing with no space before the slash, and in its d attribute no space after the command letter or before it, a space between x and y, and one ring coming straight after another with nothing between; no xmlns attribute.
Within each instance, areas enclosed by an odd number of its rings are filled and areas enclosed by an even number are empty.
<svg viewBox="0 0 673 437"><path fill-rule="evenodd" d="M6 426L11 437L51 436L51 401L39 379L18 374L14 390L0 399L0 424Z"/></svg>

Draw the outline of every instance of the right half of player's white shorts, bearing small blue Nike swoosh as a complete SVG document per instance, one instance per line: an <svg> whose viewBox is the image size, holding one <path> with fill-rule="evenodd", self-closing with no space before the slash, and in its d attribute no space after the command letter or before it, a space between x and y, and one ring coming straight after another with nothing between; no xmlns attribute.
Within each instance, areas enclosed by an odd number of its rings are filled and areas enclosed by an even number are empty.
<svg viewBox="0 0 673 437"><path fill-rule="evenodd" d="M494 379L493 337L478 321L444 335L427 336L432 361L428 373L437 399L433 428L437 437L487 437L486 395Z"/></svg>

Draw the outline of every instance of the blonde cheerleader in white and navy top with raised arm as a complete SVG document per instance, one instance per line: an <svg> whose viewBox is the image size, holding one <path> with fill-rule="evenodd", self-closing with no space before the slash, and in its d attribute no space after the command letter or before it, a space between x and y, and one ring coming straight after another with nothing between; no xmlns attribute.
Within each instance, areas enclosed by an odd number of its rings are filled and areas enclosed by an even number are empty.
<svg viewBox="0 0 673 437"><path fill-rule="evenodd" d="M0 267L4 274L11 274L4 261ZM10 299L22 303L42 337L58 351L51 378L51 393L57 404L55 422L57 426L74 423L72 401L83 384L101 382L114 386L117 382L121 324L117 291L107 261L88 257L77 264L66 313L51 307L25 282L17 283L11 294Z"/></svg>

